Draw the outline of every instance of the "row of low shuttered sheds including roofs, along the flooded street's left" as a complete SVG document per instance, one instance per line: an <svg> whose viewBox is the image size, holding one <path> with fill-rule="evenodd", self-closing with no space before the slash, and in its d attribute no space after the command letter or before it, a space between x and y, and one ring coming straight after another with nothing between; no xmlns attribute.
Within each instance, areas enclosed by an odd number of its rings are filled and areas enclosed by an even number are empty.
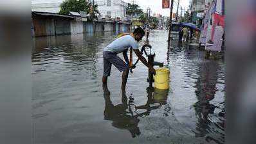
<svg viewBox="0 0 256 144"><path fill-rule="evenodd" d="M120 33L131 30L130 22L95 20L94 24L95 32ZM94 33L93 21L83 19L82 15L74 12L69 15L32 12L32 36L77 35L78 33Z"/></svg>

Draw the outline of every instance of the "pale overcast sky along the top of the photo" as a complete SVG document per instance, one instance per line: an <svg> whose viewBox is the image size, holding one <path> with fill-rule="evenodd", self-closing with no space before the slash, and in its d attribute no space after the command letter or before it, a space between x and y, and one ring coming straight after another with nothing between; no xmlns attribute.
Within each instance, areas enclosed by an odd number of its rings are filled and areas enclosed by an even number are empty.
<svg viewBox="0 0 256 144"><path fill-rule="evenodd" d="M32 0L32 3L57 3L62 2L64 0ZM132 3L133 0L123 0L127 3ZM187 10L190 0L179 0L179 6L182 6L183 9ZM134 3L138 4L144 12L147 12L147 7L151 8L152 13L160 13L161 15L169 16L170 9L162 9L161 8L162 0L134 0ZM174 10L176 13L178 0L174 0ZM179 13L181 12L179 7Z"/></svg>

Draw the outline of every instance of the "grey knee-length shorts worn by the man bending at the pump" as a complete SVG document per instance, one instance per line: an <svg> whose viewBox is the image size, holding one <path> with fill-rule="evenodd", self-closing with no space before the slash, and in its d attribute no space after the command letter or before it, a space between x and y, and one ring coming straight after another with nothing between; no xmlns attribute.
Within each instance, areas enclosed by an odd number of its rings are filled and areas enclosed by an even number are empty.
<svg viewBox="0 0 256 144"><path fill-rule="evenodd" d="M129 66L119 58L116 52L103 51L103 62L104 62L104 74L103 76L110 76L111 65L118 68L120 72L127 70Z"/></svg>

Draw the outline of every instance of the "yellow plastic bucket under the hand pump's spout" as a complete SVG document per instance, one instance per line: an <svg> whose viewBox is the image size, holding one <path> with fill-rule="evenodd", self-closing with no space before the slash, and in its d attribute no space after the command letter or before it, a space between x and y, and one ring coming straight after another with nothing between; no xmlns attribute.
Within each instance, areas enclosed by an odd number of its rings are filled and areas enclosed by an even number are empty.
<svg viewBox="0 0 256 144"><path fill-rule="evenodd" d="M154 87L160 90L169 89L169 76L170 70L167 67L156 69L156 75L154 76Z"/></svg>

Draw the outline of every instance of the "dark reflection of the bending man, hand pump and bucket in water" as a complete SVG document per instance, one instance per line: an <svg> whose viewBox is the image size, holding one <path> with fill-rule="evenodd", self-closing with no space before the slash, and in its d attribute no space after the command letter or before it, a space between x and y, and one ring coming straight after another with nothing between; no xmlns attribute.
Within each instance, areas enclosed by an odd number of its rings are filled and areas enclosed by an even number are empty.
<svg viewBox="0 0 256 144"><path fill-rule="evenodd" d="M111 101L111 92L109 92L106 86L103 86L103 90L105 99L104 120L111 120L113 127L118 129L127 129L131 132L132 138L141 134L138 127L139 118L149 116L152 110L159 109L163 105L165 105L163 110L164 116L169 115L170 106L167 104L169 90L158 90L148 87L147 102L141 106L134 105L134 98L129 97L128 100L125 94L122 95L122 103L114 105Z"/></svg>

